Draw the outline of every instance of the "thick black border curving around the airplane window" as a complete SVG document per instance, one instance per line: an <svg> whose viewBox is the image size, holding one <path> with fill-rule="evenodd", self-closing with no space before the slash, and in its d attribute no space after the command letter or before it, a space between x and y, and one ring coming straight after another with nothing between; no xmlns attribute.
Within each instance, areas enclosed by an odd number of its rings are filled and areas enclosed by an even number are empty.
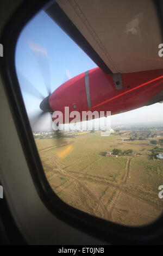
<svg viewBox="0 0 163 256"><path fill-rule="evenodd" d="M37 193L47 209L61 221L98 239L113 244L160 244L163 238L163 214L153 223L140 227L127 227L112 223L66 204L55 194L47 181L17 80L15 49L18 36L26 23L51 2L46 0L25 1L5 26L0 39L4 46L4 57L1 62L4 89ZM159 10L158 15L161 19L163 16L162 6L163 3L157 1L156 8Z"/></svg>

